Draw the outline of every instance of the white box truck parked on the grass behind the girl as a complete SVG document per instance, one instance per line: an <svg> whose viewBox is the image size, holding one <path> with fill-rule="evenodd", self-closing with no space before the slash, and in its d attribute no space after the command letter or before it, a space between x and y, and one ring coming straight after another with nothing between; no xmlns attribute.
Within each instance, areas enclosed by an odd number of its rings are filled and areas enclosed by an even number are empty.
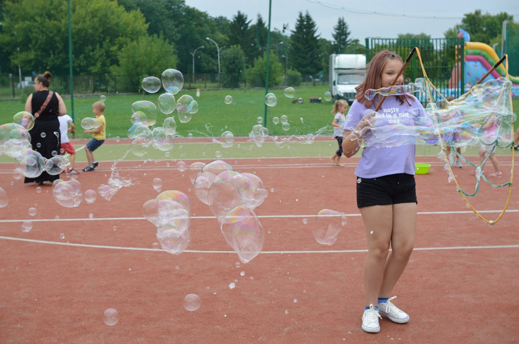
<svg viewBox="0 0 519 344"><path fill-rule="evenodd" d="M330 55L330 92L333 100L346 99L349 105L355 100L355 88L364 81L366 56L363 54Z"/></svg>

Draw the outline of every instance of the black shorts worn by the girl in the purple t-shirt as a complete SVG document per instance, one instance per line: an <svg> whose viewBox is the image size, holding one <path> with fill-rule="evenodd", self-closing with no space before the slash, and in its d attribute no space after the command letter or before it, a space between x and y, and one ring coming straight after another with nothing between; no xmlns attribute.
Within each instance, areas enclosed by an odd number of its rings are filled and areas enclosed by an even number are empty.
<svg viewBox="0 0 519 344"><path fill-rule="evenodd" d="M415 176L405 173L377 178L357 177L357 207L418 203Z"/></svg>

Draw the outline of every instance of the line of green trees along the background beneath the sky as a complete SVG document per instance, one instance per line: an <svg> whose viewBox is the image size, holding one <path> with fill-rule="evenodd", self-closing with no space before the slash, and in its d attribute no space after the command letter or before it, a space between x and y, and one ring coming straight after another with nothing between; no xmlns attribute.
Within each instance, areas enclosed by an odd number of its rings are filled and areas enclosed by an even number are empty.
<svg viewBox="0 0 519 344"><path fill-rule="evenodd" d="M239 87L243 80L251 86L265 84L268 28L259 14L254 22L240 11L230 19L211 17L184 0L71 0L71 13L74 75L139 80L159 76L167 66L189 78L193 68L196 74L217 78L220 67L218 81L223 87ZM24 76L44 70L68 73L66 1L1 0L0 18L2 74L17 75L19 66ZM476 10L445 32L445 37L456 37L458 28L465 28L472 40L493 44L500 41L503 20L513 17ZM429 37L402 35L424 36ZM333 40L328 40L318 34L310 13L299 12L293 30L274 28L270 33L269 83L322 77L331 53L364 51L361 42L352 39L344 18L338 19Z"/></svg>

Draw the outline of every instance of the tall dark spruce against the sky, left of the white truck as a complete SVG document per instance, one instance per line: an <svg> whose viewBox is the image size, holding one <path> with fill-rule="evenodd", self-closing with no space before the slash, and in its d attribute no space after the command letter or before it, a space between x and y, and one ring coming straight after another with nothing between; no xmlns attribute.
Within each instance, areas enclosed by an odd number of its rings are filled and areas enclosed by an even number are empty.
<svg viewBox="0 0 519 344"><path fill-rule="evenodd" d="M315 21L308 11L303 16L299 12L295 29L290 36L289 60L291 65L303 75L316 75L321 69L319 58L319 35Z"/></svg>

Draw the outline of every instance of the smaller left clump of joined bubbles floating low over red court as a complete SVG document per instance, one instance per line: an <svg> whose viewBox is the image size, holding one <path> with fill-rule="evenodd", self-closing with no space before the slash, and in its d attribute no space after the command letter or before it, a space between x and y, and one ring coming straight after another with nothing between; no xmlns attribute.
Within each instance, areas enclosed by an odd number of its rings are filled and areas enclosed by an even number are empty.
<svg viewBox="0 0 519 344"><path fill-rule="evenodd" d="M168 190L146 201L144 217L156 227L157 240L163 250L180 254L189 245L189 198L183 192Z"/></svg>

